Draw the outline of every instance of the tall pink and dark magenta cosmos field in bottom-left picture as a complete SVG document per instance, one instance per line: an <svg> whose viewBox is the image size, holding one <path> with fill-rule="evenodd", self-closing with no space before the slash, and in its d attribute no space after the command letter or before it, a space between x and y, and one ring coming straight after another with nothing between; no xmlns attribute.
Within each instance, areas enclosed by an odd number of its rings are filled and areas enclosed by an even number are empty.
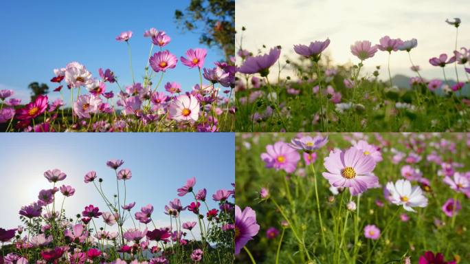
<svg viewBox="0 0 470 264"><path fill-rule="evenodd" d="M175 197L193 197L189 204L179 198L165 208L137 205L126 190L137 184L132 171L122 168L123 160L111 159L109 173L98 176L90 170L83 179L96 190L106 208L82 201L83 210L69 212L64 203L74 200L76 190L67 185L67 175L59 169L47 170L51 188L41 190L38 200L19 208L18 227L0 228L0 263L231 263L234 259L234 190L211 193L197 188L192 177L175 190ZM135 175L138 176L138 175ZM115 195L103 191L104 184L116 186ZM161 186L162 187L162 186ZM209 199L218 207L210 208ZM154 221L166 214L169 226ZM191 221L181 221L181 218Z"/></svg>

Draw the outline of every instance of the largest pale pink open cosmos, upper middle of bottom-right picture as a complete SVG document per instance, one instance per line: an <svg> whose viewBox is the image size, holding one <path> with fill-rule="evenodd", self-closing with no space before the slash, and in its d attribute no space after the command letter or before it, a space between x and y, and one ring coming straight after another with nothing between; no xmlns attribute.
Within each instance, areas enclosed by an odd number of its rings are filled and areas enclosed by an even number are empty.
<svg viewBox="0 0 470 264"><path fill-rule="evenodd" d="M370 155L355 147L346 151L331 151L324 160L328 172L323 173L323 177L332 186L348 187L351 195L357 195L378 186L379 179L372 173L375 164Z"/></svg>

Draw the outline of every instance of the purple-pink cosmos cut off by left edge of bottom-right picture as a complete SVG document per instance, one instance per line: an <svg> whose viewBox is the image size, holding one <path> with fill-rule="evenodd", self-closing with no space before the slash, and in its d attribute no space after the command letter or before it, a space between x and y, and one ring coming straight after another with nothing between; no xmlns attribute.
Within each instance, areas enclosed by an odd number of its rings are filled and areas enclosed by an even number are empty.
<svg viewBox="0 0 470 264"><path fill-rule="evenodd" d="M243 212L235 205L235 254L240 254L240 250L245 247L253 236L258 234L260 225L256 223L256 212L246 207Z"/></svg>

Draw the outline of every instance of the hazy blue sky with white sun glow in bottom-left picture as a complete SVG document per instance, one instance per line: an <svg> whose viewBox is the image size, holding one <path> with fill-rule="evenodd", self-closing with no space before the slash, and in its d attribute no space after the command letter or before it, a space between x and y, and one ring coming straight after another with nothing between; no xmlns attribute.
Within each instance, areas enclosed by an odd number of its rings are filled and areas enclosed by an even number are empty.
<svg viewBox="0 0 470 264"><path fill-rule="evenodd" d="M106 162L123 159L121 168L129 168L133 174L126 182L127 203L135 201L133 213L153 204L157 227L169 225L164 206L178 197L177 188L186 179L196 177L195 188L208 190L210 207L216 206L212 194L221 188L232 189L235 180L233 133L3 133L0 142L1 228L19 225L21 206L37 201L41 189L52 188L43 173L54 168L67 174L60 186L76 188L75 195L65 200L67 216L74 217L89 204L109 211L93 184L85 184L84 175L95 170L104 179L104 192L112 197L117 193L115 175ZM61 202L60 193L58 197ZM192 201L188 195L178 198L185 206ZM181 217L181 221L196 221L192 212L185 211ZM102 225L102 220L98 223ZM131 219L124 225L130 227Z"/></svg>

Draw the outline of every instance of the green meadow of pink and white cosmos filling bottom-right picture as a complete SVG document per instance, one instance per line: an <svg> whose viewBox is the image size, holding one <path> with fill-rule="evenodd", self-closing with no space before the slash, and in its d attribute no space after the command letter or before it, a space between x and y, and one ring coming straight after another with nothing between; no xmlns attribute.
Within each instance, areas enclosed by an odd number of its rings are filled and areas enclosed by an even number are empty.
<svg viewBox="0 0 470 264"><path fill-rule="evenodd" d="M470 135L237 133L238 263L469 263Z"/></svg>

